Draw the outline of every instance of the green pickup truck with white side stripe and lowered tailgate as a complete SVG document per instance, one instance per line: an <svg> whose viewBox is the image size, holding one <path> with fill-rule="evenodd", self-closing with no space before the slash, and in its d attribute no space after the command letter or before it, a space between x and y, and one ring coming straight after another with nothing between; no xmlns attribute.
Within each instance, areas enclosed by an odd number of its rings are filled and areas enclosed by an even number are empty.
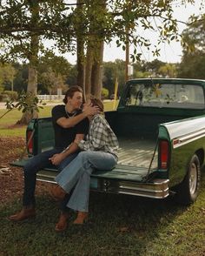
<svg viewBox="0 0 205 256"><path fill-rule="evenodd" d="M90 189L155 199L175 193L182 204L194 202L204 163L204 99L205 80L129 80L117 110L105 113L119 139L118 164L109 172L93 172ZM29 157L52 148L51 118L33 119L26 139ZM37 179L55 183L57 173L48 167Z"/></svg>

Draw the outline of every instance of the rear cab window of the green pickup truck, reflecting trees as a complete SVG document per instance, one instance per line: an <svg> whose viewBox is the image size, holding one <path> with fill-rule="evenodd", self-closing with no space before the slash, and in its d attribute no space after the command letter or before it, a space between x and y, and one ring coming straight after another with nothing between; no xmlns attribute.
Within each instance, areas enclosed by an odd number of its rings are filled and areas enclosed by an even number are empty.
<svg viewBox="0 0 205 256"><path fill-rule="evenodd" d="M204 109L204 93L196 84L131 84L126 105Z"/></svg>

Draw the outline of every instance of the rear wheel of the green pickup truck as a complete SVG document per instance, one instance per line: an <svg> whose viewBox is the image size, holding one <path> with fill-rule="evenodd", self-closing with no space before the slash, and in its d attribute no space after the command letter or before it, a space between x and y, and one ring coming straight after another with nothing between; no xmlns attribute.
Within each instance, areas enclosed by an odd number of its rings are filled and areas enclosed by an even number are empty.
<svg viewBox="0 0 205 256"><path fill-rule="evenodd" d="M201 179L200 161L194 155L188 163L187 174L177 192L178 201L182 205L189 205L195 202L199 193Z"/></svg>

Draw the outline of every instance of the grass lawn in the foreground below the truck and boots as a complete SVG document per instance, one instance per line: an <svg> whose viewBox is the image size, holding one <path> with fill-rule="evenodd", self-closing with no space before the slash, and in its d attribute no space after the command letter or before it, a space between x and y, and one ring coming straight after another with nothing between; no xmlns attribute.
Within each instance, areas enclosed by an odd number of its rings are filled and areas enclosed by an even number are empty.
<svg viewBox="0 0 205 256"><path fill-rule="evenodd" d="M12 223L6 217L19 199L0 206L0 255L205 255L205 177L194 205L173 199L141 199L91 192L89 222L56 233L58 205L49 195L37 198L36 219Z"/></svg>

